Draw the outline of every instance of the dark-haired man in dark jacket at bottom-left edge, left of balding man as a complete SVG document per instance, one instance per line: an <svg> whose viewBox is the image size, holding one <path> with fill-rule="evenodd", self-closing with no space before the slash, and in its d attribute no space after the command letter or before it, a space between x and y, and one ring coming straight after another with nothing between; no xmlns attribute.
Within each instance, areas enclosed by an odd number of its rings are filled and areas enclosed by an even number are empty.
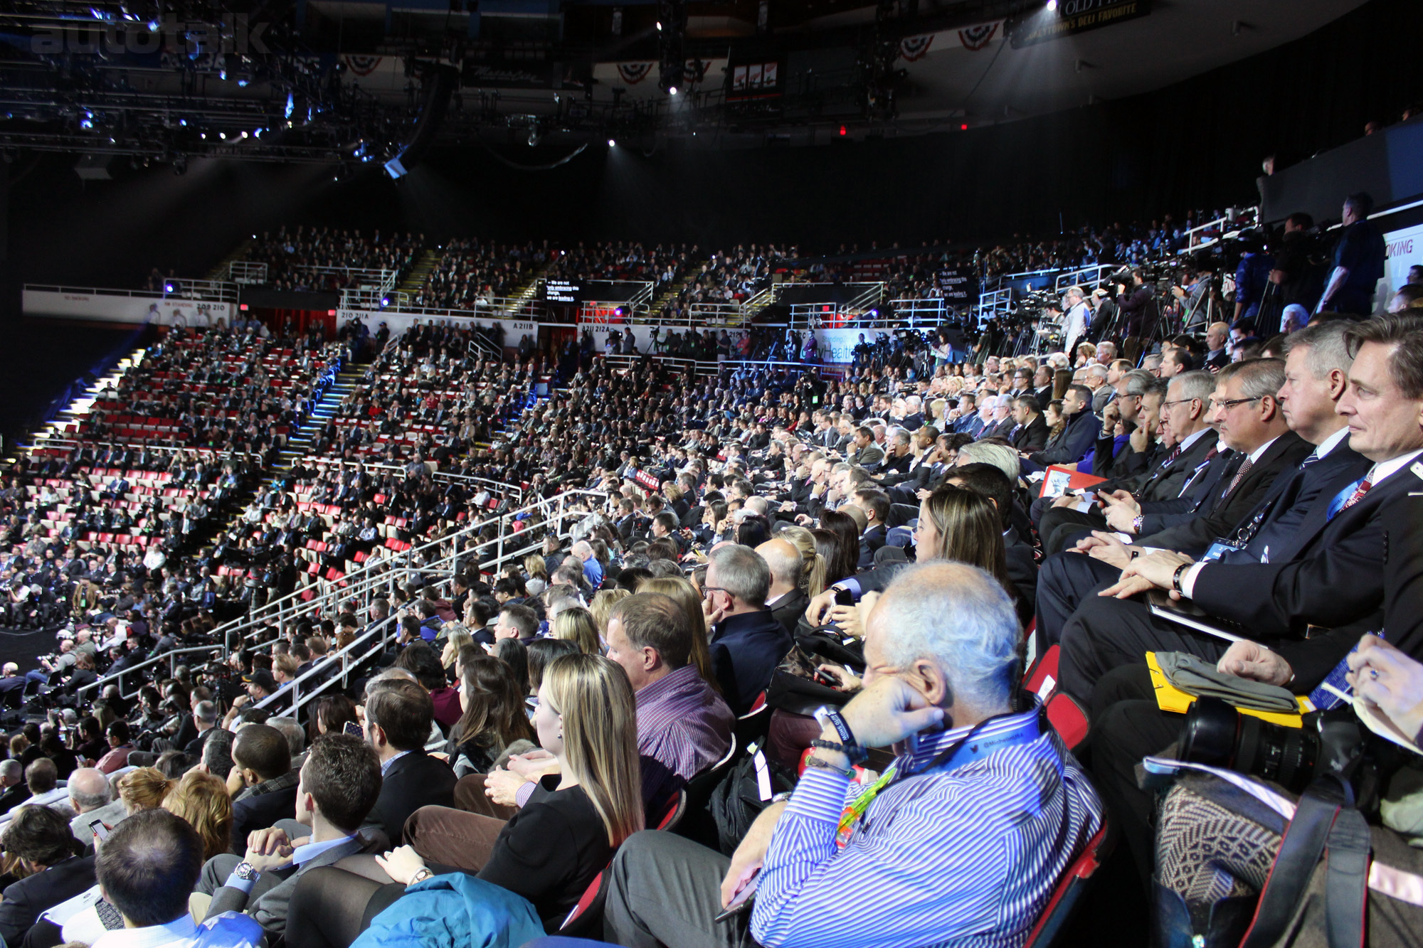
<svg viewBox="0 0 1423 948"><path fill-rule="evenodd" d="M40 912L94 885L94 857L74 854L70 821L50 807L20 807L6 827L4 848L30 871L7 885L0 901L0 938L18 945Z"/></svg>

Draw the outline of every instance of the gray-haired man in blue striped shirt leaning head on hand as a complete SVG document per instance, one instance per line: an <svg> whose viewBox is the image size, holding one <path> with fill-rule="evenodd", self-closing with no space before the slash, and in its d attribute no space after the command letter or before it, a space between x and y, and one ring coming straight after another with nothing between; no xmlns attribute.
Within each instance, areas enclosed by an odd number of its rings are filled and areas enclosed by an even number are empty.
<svg viewBox="0 0 1423 948"><path fill-rule="evenodd" d="M629 837L609 873L608 941L1022 941L1103 817L1036 702L1015 705L1013 604L988 572L933 562L904 569L868 612L865 686L821 720L795 794L730 860L670 833ZM891 746L905 753L837 846L864 790L851 766ZM717 922L756 868L748 925Z"/></svg>

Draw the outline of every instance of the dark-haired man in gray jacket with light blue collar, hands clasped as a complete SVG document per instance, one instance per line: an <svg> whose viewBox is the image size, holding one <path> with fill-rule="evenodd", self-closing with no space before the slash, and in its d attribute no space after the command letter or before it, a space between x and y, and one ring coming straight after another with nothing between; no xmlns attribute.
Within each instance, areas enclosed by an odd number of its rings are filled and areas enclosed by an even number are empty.
<svg viewBox="0 0 1423 948"><path fill-rule="evenodd" d="M196 891L212 895L203 917L246 912L268 935L282 935L302 874L367 850L357 827L376 806L380 784L374 747L351 734L317 737L302 764L295 824L258 830L245 857L215 855L203 865Z"/></svg>

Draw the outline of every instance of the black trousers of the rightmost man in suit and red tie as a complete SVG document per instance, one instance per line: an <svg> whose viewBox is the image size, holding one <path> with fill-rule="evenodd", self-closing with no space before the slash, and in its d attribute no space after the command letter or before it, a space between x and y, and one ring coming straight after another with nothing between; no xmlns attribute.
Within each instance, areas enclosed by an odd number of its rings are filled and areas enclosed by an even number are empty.
<svg viewBox="0 0 1423 948"><path fill-rule="evenodd" d="M1042 588L1042 584L1039 584ZM1087 596L1062 632L1062 689L1091 706L1097 682L1121 665L1144 665L1147 652L1190 652L1214 662L1229 642L1158 619L1146 602Z"/></svg>

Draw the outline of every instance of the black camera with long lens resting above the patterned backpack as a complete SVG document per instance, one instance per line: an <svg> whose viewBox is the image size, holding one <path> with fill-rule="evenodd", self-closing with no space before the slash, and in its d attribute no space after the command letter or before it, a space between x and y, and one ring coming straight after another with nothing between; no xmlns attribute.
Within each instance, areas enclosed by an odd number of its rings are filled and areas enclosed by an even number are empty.
<svg viewBox="0 0 1423 948"><path fill-rule="evenodd" d="M1220 697L1197 697L1185 713L1178 757L1269 780L1301 793L1319 774L1348 777L1363 753L1365 733L1346 705L1309 712L1303 726L1242 715Z"/></svg>

